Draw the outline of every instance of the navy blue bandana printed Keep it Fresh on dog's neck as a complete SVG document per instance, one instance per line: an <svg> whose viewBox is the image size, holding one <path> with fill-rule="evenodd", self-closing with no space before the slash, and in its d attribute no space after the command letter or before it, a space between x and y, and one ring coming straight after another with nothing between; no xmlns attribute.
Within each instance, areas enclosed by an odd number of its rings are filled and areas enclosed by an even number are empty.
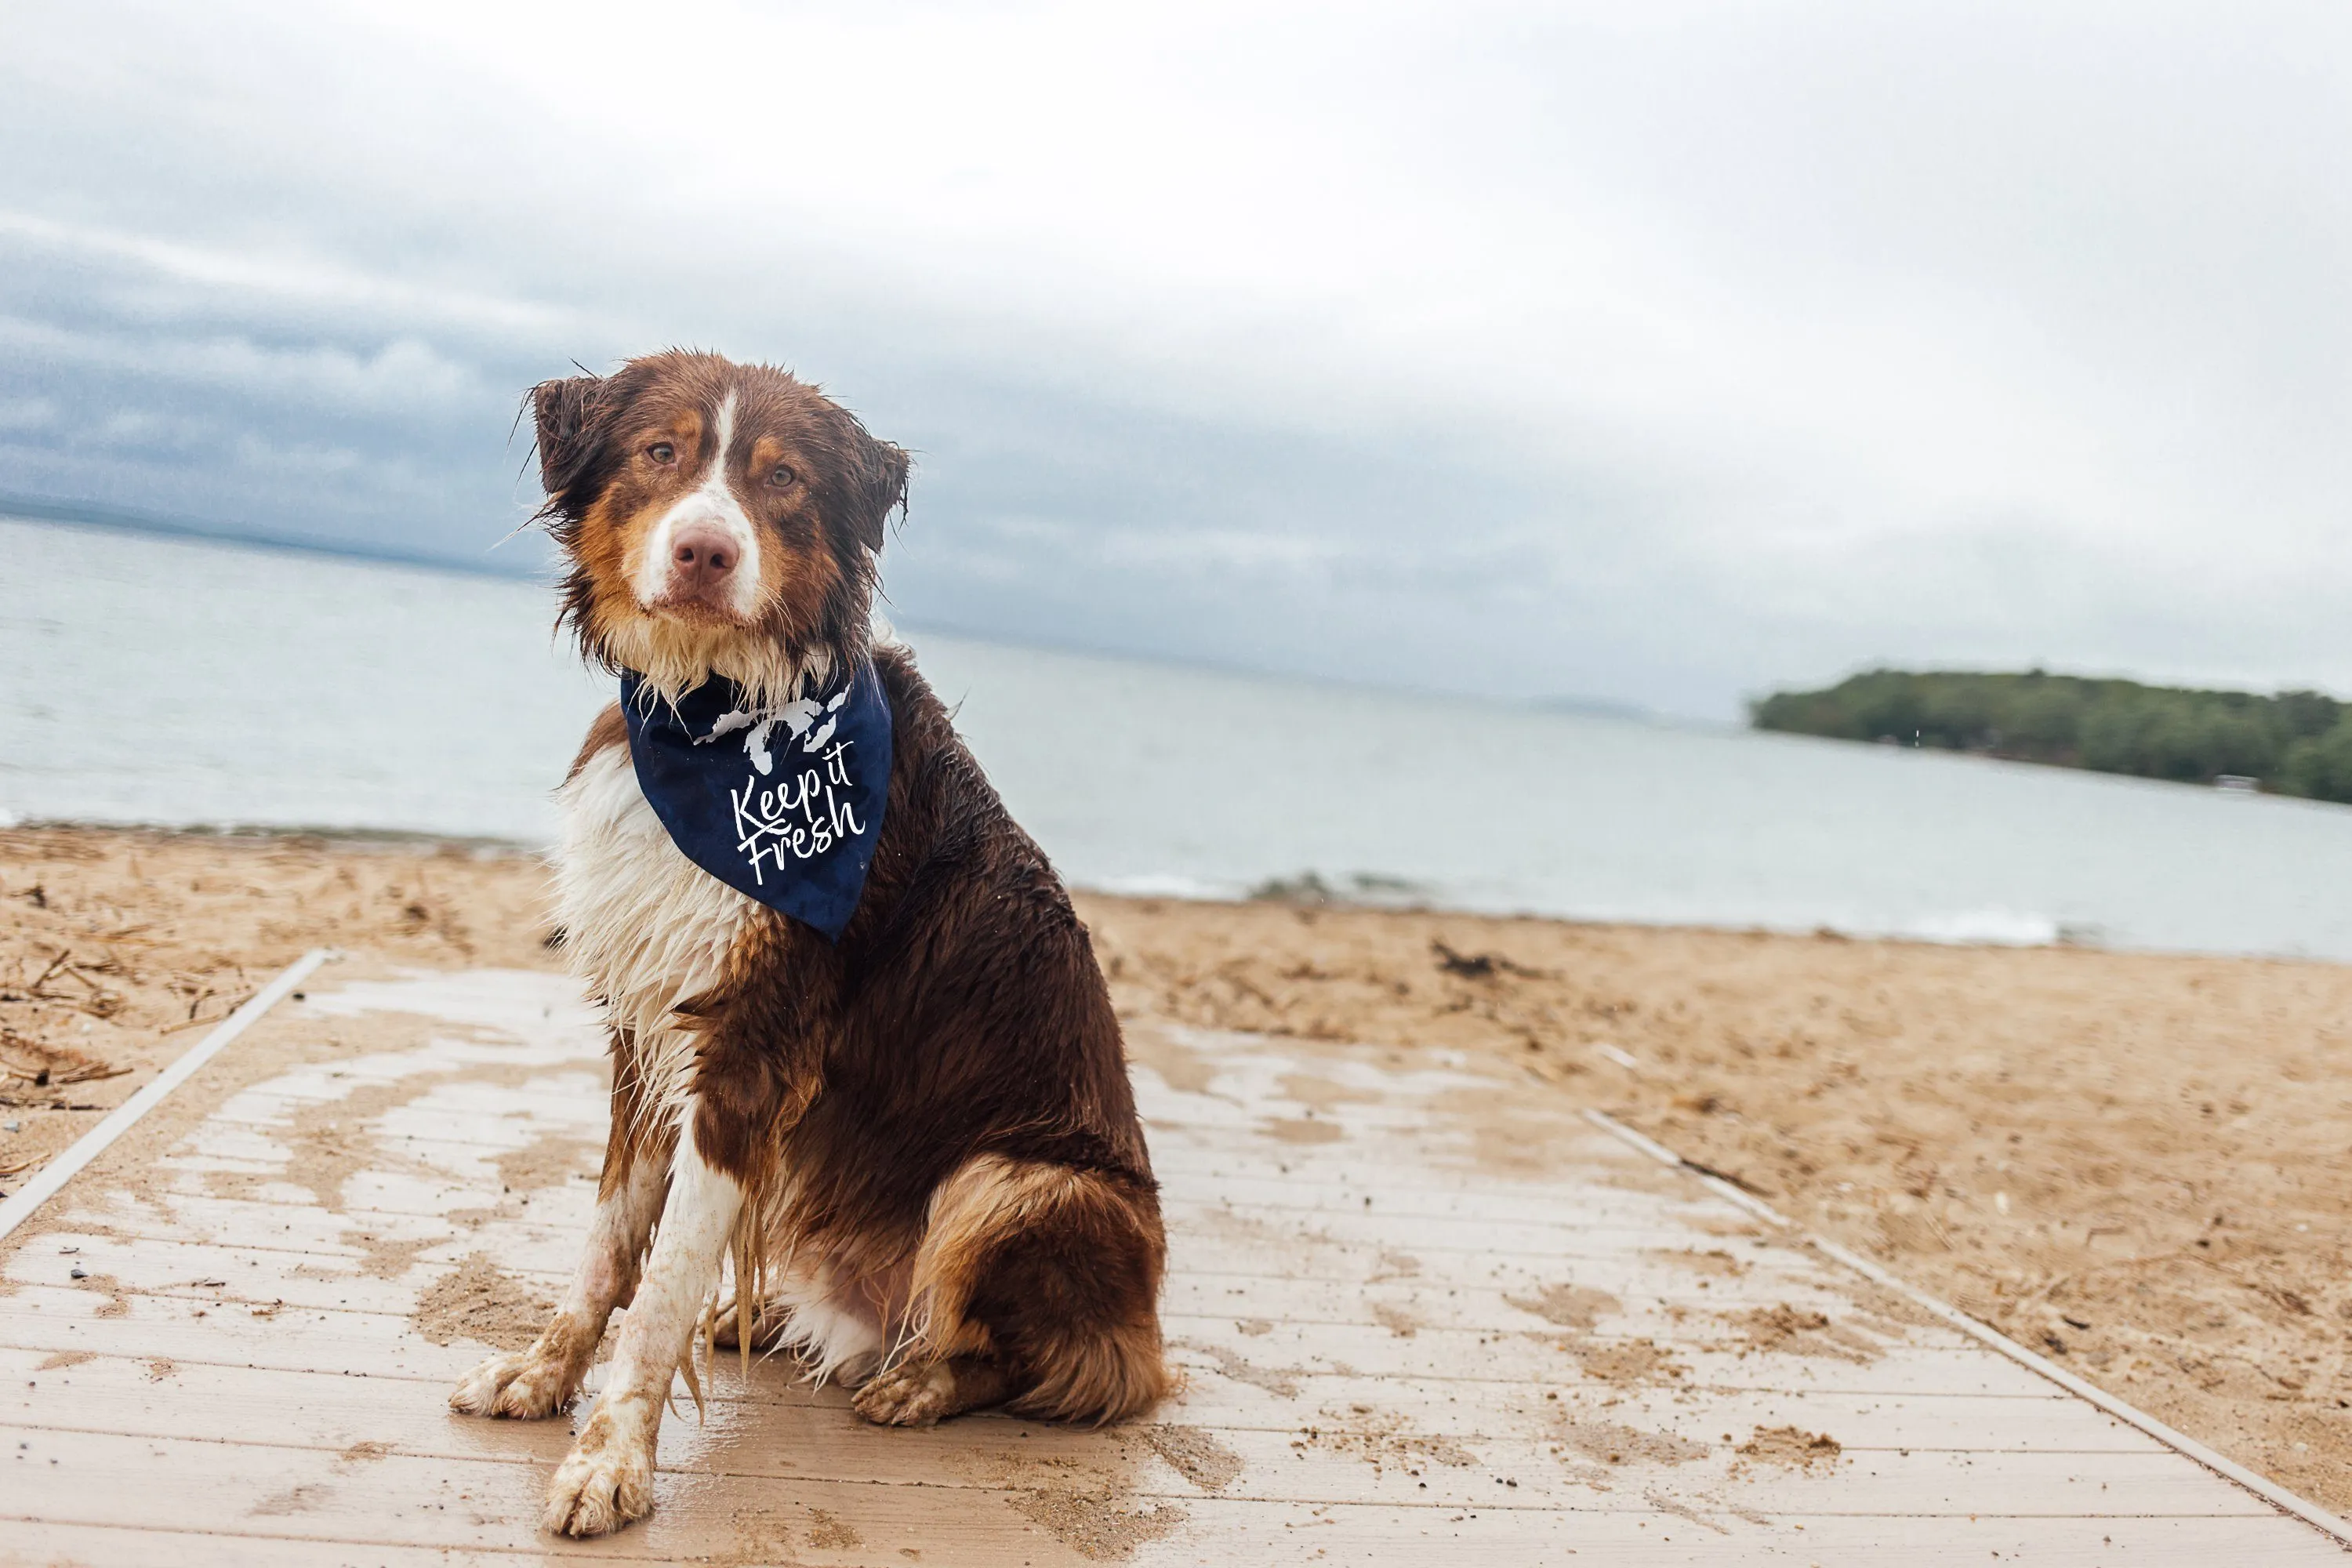
<svg viewBox="0 0 2352 1568"><path fill-rule="evenodd" d="M840 940L889 799L889 701L873 663L764 712L717 675L673 705L626 672L621 717L637 788L680 853Z"/></svg>

